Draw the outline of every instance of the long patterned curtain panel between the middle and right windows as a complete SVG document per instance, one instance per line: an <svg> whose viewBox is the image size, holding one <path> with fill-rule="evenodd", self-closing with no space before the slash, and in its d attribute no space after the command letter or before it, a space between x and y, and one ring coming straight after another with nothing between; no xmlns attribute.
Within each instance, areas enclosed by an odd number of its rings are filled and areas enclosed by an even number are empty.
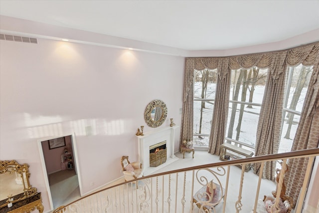
<svg viewBox="0 0 319 213"><path fill-rule="evenodd" d="M279 150L284 107L285 58L286 52L278 52L272 57L258 120L255 156L275 154ZM253 165L254 173L259 175L263 172L262 178L275 181L276 161L265 162L263 171L260 171L260 166L261 163Z"/></svg>

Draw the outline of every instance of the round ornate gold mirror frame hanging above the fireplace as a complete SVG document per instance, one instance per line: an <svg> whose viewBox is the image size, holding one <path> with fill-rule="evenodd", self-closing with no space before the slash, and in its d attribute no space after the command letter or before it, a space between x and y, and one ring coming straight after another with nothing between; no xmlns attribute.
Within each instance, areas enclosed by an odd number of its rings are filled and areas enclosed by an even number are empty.
<svg viewBox="0 0 319 213"><path fill-rule="evenodd" d="M161 115L159 115L159 118L153 119L152 118L153 111L155 111L155 114L156 114L157 109L161 110L160 111ZM160 125L162 125L162 123L164 123L166 117L167 117L167 107L166 107L166 104L161 100L151 101L145 109L144 119L149 127L153 127L153 128L159 127Z"/></svg>

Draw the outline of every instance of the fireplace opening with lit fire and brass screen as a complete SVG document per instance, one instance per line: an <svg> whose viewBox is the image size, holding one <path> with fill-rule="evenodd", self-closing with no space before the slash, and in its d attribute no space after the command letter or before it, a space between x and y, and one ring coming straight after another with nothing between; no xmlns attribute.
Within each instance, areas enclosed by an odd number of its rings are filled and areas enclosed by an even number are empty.
<svg viewBox="0 0 319 213"><path fill-rule="evenodd" d="M150 167L157 167L166 162L166 141L150 146Z"/></svg>

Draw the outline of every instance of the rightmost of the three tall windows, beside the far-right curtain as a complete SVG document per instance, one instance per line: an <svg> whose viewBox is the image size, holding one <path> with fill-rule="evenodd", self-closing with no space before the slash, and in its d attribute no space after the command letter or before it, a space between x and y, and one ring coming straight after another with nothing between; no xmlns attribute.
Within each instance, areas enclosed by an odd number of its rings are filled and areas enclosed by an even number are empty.
<svg viewBox="0 0 319 213"><path fill-rule="evenodd" d="M291 151L312 72L312 66L288 67L279 153Z"/></svg>

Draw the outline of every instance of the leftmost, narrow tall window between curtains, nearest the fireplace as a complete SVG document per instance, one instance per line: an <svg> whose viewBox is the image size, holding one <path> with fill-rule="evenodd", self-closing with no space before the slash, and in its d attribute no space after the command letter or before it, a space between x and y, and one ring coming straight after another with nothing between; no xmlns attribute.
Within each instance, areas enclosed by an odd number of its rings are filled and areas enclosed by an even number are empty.
<svg viewBox="0 0 319 213"><path fill-rule="evenodd" d="M217 70L194 71L193 145L208 147Z"/></svg>

